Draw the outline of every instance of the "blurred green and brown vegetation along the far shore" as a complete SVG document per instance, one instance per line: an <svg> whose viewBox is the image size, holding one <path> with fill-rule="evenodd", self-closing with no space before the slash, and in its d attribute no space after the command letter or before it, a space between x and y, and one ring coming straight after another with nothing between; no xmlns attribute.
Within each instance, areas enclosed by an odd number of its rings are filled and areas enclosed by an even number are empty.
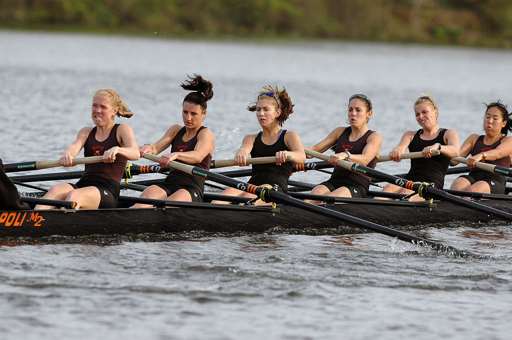
<svg viewBox="0 0 512 340"><path fill-rule="evenodd" d="M0 28L512 48L509 0L0 0Z"/></svg>

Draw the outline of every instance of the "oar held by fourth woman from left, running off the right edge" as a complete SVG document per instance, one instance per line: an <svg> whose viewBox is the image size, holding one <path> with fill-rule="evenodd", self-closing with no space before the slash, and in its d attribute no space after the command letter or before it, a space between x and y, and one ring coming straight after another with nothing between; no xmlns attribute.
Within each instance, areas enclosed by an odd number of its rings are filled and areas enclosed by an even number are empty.
<svg viewBox="0 0 512 340"><path fill-rule="evenodd" d="M315 151L311 151L311 150L307 150L307 149L304 151L306 152L306 154L316 157L319 160L327 161L329 159L329 156L319 153L319 152L315 152ZM480 211L485 214L499 217L506 221L512 221L512 214L506 213L506 212L498 210L498 209L486 207L479 203L472 202L470 200L467 200L467 199L464 199L464 198L461 198L458 196L450 195L449 193L447 193L441 189L431 187L430 185L427 185L424 183L414 183L410 180L400 178L397 176L393 176L393 175L388 175L387 173L380 172L375 169L365 167L365 166L362 166L362 165L359 165L356 163L352 163L352 162L338 161L337 165L339 165L340 167L345 168L347 170L364 173L366 175L382 179L385 182L397 185L399 187L413 190L416 193L418 193L421 197L431 197L431 198L436 198L436 199L440 199L440 200L444 200L444 201L449 201L449 202L452 202L454 204L457 204L457 205L460 205L460 206L463 206L466 208L470 208L470 209Z"/></svg>

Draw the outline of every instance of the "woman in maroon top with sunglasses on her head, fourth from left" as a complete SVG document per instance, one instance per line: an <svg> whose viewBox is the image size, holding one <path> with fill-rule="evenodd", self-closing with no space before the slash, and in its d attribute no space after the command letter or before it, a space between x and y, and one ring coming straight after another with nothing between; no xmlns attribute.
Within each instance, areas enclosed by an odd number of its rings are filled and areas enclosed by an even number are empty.
<svg viewBox="0 0 512 340"><path fill-rule="evenodd" d="M372 102L367 96L357 94L349 98L348 122L350 126L335 128L327 137L307 149L324 152L331 148L334 154L329 157L329 164L334 165L331 178L311 190L314 195L366 197L370 186L370 177L346 170L336 163L340 160L354 162L375 168L380 153L382 137L368 128L372 117ZM308 200L311 203L320 201Z"/></svg>

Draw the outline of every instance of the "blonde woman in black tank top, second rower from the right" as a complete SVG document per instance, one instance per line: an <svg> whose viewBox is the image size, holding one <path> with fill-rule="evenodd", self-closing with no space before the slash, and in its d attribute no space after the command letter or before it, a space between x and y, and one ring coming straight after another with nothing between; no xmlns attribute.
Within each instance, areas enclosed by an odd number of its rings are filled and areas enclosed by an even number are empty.
<svg viewBox="0 0 512 340"><path fill-rule="evenodd" d="M455 130L444 129L437 124L439 110L434 98L429 93L419 97L414 103L416 121L421 126L417 131L407 131L402 135L400 143L389 153L391 160L400 162L400 156L409 148L410 152L422 151L423 157L413 158L411 168L404 178L413 182L434 183L434 187L442 189L444 175L452 157L459 155L459 135ZM432 151L439 150L440 154L432 157ZM394 184L388 184L382 192L411 194L414 191ZM386 199L380 198L379 199ZM424 200L414 195L410 200Z"/></svg>

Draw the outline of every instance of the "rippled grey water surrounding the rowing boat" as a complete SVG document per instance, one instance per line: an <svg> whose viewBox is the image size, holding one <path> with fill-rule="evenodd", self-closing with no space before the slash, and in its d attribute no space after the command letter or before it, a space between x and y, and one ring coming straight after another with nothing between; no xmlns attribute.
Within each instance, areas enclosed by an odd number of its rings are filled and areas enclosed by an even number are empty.
<svg viewBox="0 0 512 340"><path fill-rule="evenodd" d="M179 84L192 73L214 83L205 121L216 134L214 158L232 157L243 136L259 130L245 106L266 84L286 86L295 109L285 128L305 145L345 125L350 95L368 95L374 106L369 127L382 135L382 153L403 131L418 128L412 105L427 90L439 106L440 125L455 128L461 142L482 130L482 102L512 102L504 76L512 67L510 51L9 31L0 32L0 47L4 163L58 159L78 129L91 125L90 90L99 87L118 90L135 114L118 122L129 123L140 144L154 142L180 123L185 92ZM152 176L158 177L144 178ZM326 176L291 179L317 183ZM0 338L507 339L512 232L503 224L417 232L488 256L483 260L364 231L5 242Z"/></svg>

